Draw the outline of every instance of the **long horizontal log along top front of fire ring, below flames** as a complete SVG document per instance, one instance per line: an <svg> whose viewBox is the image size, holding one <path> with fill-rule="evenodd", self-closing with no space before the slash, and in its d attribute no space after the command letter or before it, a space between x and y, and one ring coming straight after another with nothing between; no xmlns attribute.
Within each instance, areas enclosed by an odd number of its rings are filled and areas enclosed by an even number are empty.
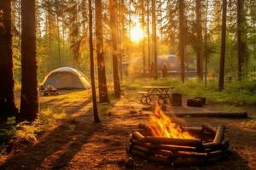
<svg viewBox="0 0 256 170"><path fill-rule="evenodd" d="M201 147L200 139L173 139L173 138L160 138L160 137L146 137L144 142L150 144L172 144L182 146Z"/></svg>

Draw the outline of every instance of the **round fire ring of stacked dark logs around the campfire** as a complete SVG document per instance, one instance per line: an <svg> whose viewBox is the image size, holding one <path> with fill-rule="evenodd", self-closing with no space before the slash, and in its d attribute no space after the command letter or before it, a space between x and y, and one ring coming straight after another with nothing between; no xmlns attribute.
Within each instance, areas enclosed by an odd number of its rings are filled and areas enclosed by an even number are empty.
<svg viewBox="0 0 256 170"><path fill-rule="evenodd" d="M230 143L224 137L223 124L217 130L209 125L182 128L196 139L154 137L150 128L140 123L139 129L130 134L127 153L172 166L203 165L230 155Z"/></svg>

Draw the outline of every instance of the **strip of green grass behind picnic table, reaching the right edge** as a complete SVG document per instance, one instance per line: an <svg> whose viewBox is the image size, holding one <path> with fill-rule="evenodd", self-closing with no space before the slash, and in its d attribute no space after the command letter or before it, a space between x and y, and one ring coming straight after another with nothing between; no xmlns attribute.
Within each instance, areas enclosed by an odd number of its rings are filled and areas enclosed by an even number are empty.
<svg viewBox="0 0 256 170"><path fill-rule="evenodd" d="M208 101L216 104L250 107L256 105L256 81L227 82L222 92L218 91L217 81L208 81L208 86L205 88L204 83L195 78L188 79L185 83L174 78L125 80L123 87L131 90L139 90L145 85L173 86L174 92L189 97L204 96Z"/></svg>

